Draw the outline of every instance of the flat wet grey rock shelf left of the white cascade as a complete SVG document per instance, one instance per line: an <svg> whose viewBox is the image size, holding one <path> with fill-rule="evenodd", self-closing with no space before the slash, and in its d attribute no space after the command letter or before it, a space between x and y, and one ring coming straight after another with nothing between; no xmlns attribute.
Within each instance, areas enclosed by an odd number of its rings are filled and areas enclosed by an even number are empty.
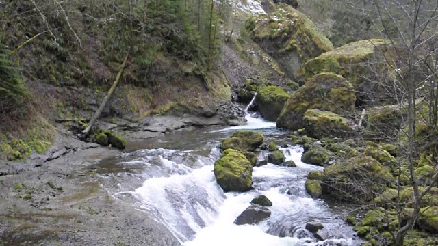
<svg viewBox="0 0 438 246"><path fill-rule="evenodd" d="M1 163L0 245L180 245L133 197L112 197L96 163L117 156L60 131L47 154Z"/></svg>

